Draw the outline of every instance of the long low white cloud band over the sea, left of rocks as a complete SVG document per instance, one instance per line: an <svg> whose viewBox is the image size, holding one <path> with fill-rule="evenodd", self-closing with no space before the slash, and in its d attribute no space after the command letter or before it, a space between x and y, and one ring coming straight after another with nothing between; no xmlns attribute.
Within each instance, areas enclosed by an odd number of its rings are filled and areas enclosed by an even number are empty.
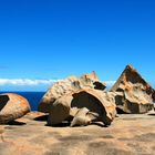
<svg viewBox="0 0 155 155"><path fill-rule="evenodd" d="M0 79L0 85L35 86L51 85L60 80Z"/></svg>

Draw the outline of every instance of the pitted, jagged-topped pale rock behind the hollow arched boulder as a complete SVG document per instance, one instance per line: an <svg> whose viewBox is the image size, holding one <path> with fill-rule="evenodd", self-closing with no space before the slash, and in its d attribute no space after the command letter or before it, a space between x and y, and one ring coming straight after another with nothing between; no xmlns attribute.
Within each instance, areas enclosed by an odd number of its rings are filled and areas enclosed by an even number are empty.
<svg viewBox="0 0 155 155"><path fill-rule="evenodd" d="M69 76L68 79L54 83L42 97L38 110L40 112L49 113L50 105L54 103L59 97L76 92L81 87L104 90L106 86L101 83L95 74L84 74L81 78Z"/></svg>

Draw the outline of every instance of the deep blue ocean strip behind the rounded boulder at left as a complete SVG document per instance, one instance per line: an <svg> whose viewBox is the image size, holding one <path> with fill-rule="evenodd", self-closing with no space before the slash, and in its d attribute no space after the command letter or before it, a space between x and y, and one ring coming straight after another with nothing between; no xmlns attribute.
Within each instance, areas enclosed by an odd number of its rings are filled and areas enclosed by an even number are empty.
<svg viewBox="0 0 155 155"><path fill-rule="evenodd" d="M0 92L0 94L2 93L16 93L16 94L22 95L29 101L31 111L37 111L38 104L40 103L45 92Z"/></svg>

